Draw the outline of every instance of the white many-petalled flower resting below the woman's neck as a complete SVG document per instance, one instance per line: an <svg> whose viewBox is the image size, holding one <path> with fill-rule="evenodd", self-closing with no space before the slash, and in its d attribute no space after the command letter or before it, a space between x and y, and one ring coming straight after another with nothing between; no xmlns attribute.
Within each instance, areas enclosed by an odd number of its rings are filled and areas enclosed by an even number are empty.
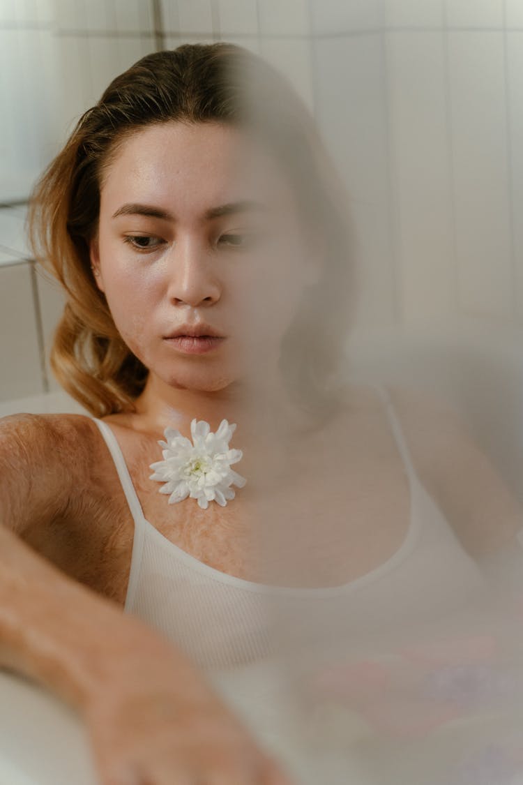
<svg viewBox="0 0 523 785"><path fill-rule="evenodd" d="M182 502L190 496L198 499L198 506L207 509L215 501L222 507L234 498L231 485L243 487L247 480L231 469L231 464L242 459L241 450L230 450L229 441L236 425L222 420L216 433L209 422L193 420L190 439L180 431L166 428L166 441L158 441L163 461L151 463L150 480L165 483L160 493L170 494L169 504Z"/></svg>

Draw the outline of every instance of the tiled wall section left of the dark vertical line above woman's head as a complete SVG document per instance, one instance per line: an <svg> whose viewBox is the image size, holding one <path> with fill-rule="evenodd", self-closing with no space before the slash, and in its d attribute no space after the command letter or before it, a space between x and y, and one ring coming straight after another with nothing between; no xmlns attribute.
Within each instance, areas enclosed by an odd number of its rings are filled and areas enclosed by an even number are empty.
<svg viewBox="0 0 523 785"><path fill-rule="evenodd" d="M151 27L150 0L0 2L0 95L9 108L0 123L0 200L27 197L38 172L107 83L154 50ZM122 30L128 35L117 35ZM39 349L45 338L49 350L61 311L60 295L35 281L31 265L23 263L28 256L24 210L0 210L2 400L42 392Z"/></svg>

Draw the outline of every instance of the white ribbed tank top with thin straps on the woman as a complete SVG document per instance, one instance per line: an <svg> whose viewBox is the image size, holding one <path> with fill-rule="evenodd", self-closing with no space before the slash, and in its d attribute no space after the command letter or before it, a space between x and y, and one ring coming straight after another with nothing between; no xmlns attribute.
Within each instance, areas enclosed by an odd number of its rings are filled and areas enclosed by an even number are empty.
<svg viewBox="0 0 523 785"><path fill-rule="evenodd" d="M114 433L95 419L135 526L125 611L140 616L212 674L271 658L278 619L286 641L293 637L303 646L314 645L333 630L340 633L340 626L354 639L416 619L426 622L476 596L484 586L481 572L420 483L390 398L380 392L409 480L409 529L380 567L343 586L318 589L266 586L227 575L166 539L143 517Z"/></svg>

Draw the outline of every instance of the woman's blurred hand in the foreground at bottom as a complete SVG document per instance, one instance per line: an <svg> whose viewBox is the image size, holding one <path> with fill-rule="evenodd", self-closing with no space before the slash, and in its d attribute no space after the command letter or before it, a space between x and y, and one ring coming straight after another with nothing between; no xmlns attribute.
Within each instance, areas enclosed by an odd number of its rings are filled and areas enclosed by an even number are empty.
<svg viewBox="0 0 523 785"><path fill-rule="evenodd" d="M84 716L101 785L292 785L154 633L104 669Z"/></svg>

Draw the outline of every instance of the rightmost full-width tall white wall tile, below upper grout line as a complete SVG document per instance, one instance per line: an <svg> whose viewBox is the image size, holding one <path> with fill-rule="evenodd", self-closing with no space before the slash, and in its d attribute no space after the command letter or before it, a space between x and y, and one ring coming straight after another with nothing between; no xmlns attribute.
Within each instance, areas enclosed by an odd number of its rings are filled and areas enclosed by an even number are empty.
<svg viewBox="0 0 523 785"><path fill-rule="evenodd" d="M514 316L503 33L449 33L459 301Z"/></svg>

